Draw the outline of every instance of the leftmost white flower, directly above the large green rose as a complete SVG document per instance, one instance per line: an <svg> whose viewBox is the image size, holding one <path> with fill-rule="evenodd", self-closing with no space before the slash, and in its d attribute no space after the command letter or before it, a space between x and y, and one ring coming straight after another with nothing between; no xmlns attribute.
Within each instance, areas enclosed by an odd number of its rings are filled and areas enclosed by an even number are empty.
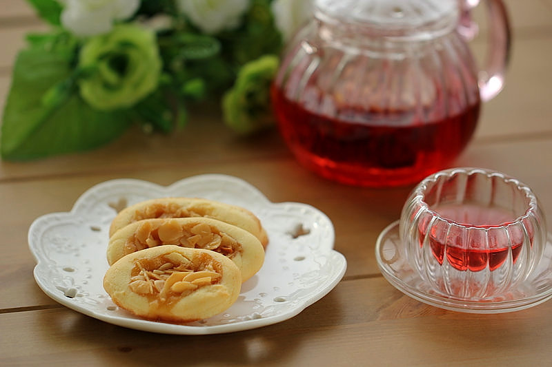
<svg viewBox="0 0 552 367"><path fill-rule="evenodd" d="M115 20L132 17L140 0L59 0L61 24L77 36L107 33Z"/></svg>

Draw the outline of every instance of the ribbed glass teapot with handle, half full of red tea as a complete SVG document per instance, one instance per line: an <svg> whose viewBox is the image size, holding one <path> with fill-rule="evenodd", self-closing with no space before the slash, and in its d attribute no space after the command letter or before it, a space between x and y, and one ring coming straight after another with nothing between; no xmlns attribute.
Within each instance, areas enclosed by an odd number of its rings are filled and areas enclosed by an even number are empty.
<svg viewBox="0 0 552 367"><path fill-rule="evenodd" d="M406 185L449 165L481 101L504 83L510 32L486 0L489 57L467 44L477 0L316 0L272 87L280 132L302 165L351 185Z"/></svg>

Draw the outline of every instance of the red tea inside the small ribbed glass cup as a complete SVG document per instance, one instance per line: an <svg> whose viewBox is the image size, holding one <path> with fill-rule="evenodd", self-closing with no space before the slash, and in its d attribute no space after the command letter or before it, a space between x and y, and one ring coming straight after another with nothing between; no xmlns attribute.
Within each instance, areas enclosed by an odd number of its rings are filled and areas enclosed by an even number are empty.
<svg viewBox="0 0 552 367"><path fill-rule="evenodd" d="M443 205L433 210L439 213L442 218L453 220L458 224L482 229L507 225L515 220L512 213L504 209L479 207L476 205ZM437 262L443 264L446 256L446 261L459 271L482 271L487 266L489 266L489 270L494 271L504 264L508 258L509 251L511 251L512 262L515 263L522 249L523 233L510 233L511 247L506 243L503 247L496 247L495 245L493 248L489 248L486 243L477 243L472 240L469 242L469 249L466 249L461 245L455 246L455 242L462 240L460 238L453 238L451 235L443 238L438 233L426 233L427 225L427 222L420 222L418 226L420 246L423 245L426 235L429 235L428 244ZM521 229L514 227L511 231L521 231ZM533 233L528 234L529 242L532 244ZM493 238L489 234L489 241L491 240Z"/></svg>

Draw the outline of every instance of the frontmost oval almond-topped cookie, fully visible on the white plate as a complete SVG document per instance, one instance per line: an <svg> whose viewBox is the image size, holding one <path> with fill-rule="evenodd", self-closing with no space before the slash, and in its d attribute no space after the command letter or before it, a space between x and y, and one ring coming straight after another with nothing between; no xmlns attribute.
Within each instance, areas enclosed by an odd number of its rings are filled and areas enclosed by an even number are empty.
<svg viewBox="0 0 552 367"><path fill-rule="evenodd" d="M192 322L225 311L241 275L226 256L167 245L126 255L103 277L117 306L150 320Z"/></svg>

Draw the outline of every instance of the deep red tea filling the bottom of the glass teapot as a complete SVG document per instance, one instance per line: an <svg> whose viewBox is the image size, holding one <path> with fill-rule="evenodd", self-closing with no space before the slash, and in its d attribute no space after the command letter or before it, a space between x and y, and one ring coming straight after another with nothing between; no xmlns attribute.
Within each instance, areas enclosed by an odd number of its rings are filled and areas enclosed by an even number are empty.
<svg viewBox="0 0 552 367"><path fill-rule="evenodd" d="M432 123L385 125L406 112L351 111L359 123L315 114L272 90L279 128L297 160L317 174L351 185L405 185L442 169L460 154L475 130L480 103Z"/></svg>

